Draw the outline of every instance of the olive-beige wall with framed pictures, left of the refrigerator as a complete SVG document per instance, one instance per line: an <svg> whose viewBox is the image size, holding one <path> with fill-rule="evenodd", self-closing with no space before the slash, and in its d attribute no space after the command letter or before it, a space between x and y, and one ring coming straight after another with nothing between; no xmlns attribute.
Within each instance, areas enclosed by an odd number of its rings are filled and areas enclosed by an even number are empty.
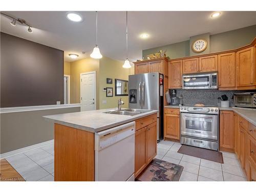
<svg viewBox="0 0 256 192"><path fill-rule="evenodd" d="M134 65L130 69L122 68L123 62L117 61L108 57L102 57L100 59L100 72L99 72L99 109L116 108L117 100L122 97L124 101L123 107L128 107L128 96L115 96L115 78L128 80L128 76L134 74ZM106 78L112 78L113 84L107 84ZM113 97L106 97L106 92L103 92L103 88L113 88ZM106 100L106 103L102 103Z"/></svg>

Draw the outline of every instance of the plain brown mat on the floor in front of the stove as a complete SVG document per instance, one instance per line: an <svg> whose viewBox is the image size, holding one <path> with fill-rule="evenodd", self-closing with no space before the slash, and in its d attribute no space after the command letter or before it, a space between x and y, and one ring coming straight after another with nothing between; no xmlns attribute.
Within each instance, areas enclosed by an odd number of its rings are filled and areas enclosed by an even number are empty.
<svg viewBox="0 0 256 192"><path fill-rule="evenodd" d="M223 163L223 157L221 152L206 150L206 148L182 145L178 153L206 159L209 161Z"/></svg>

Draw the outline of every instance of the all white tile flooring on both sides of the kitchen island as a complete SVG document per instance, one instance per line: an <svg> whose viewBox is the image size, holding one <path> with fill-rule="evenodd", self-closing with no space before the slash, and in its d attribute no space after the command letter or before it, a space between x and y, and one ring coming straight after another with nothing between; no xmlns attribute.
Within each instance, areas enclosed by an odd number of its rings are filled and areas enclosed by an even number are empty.
<svg viewBox="0 0 256 192"><path fill-rule="evenodd" d="M180 143L161 141L156 158L184 167L180 181L246 181L236 155L222 152L224 164L177 153ZM54 180L53 144L6 159L27 181Z"/></svg>

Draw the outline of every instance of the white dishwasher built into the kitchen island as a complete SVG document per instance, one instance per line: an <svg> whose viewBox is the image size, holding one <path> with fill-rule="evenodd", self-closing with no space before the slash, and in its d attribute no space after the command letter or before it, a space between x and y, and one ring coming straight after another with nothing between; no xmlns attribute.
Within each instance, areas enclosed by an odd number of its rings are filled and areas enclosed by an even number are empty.
<svg viewBox="0 0 256 192"><path fill-rule="evenodd" d="M135 121L95 133L95 181L134 181Z"/></svg>

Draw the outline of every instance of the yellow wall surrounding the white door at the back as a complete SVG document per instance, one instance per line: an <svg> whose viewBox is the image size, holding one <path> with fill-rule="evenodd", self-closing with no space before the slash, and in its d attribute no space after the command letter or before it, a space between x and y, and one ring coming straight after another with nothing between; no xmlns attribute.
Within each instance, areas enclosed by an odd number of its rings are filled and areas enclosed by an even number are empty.
<svg viewBox="0 0 256 192"><path fill-rule="evenodd" d="M70 103L80 103L80 74L96 71L96 109L99 109L99 59L91 57L71 62Z"/></svg>

